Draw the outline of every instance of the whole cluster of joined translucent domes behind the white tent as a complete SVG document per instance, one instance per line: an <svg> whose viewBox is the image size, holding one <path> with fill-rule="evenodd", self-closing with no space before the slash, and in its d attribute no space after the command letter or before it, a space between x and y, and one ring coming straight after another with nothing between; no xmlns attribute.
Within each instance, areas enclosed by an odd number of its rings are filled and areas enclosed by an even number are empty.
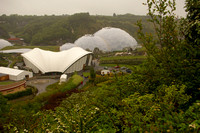
<svg viewBox="0 0 200 133"><path fill-rule="evenodd" d="M60 47L60 51L67 50L71 47L81 47L93 51L99 48L102 51L118 51L123 48L137 47L137 41L124 30L119 28L106 27L97 31L94 35L84 35L78 38L74 44L64 44Z"/></svg>

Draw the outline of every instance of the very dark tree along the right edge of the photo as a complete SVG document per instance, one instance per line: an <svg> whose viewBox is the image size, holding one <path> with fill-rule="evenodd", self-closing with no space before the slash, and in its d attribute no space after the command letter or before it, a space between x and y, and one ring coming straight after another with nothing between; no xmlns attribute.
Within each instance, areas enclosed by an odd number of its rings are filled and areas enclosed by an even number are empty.
<svg viewBox="0 0 200 133"><path fill-rule="evenodd" d="M191 81L191 88L200 88L200 1L186 0L185 39L187 53L188 79ZM197 90L197 92L199 92ZM199 97L200 94L195 97Z"/></svg>

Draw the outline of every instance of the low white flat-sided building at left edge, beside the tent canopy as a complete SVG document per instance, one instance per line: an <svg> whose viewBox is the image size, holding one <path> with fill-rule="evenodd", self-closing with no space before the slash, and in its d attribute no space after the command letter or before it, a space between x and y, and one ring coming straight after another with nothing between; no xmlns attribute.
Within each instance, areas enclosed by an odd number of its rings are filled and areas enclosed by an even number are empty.
<svg viewBox="0 0 200 133"><path fill-rule="evenodd" d="M9 75L10 80L19 81L26 78L32 78L33 73L24 70L12 69L8 67L0 67L0 73Z"/></svg>

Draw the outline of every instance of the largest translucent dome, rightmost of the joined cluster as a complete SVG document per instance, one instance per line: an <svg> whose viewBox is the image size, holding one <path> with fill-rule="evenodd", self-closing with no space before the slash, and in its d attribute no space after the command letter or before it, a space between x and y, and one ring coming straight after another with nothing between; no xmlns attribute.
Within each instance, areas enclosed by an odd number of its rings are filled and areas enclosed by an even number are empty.
<svg viewBox="0 0 200 133"><path fill-rule="evenodd" d="M137 46L137 41L127 32L119 28L106 27L97 31L94 36L101 37L109 45L111 51Z"/></svg>

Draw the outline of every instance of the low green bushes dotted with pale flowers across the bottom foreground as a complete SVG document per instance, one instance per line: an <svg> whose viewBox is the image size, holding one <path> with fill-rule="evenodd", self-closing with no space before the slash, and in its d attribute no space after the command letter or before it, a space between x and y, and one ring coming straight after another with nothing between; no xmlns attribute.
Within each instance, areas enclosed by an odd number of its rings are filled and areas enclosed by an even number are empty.
<svg viewBox="0 0 200 133"><path fill-rule="evenodd" d="M37 123L32 123L36 124L35 128L31 128L32 125L25 128L30 132L198 130L199 103L194 103L186 111L180 109L180 106L191 98L185 94L184 85L160 86L154 94L141 94L137 91L129 94L130 92L124 92L130 91L130 88L119 86L123 78L113 82L112 86L105 84L103 87L93 87L88 91L71 95L55 111L40 111L35 114Z"/></svg>

